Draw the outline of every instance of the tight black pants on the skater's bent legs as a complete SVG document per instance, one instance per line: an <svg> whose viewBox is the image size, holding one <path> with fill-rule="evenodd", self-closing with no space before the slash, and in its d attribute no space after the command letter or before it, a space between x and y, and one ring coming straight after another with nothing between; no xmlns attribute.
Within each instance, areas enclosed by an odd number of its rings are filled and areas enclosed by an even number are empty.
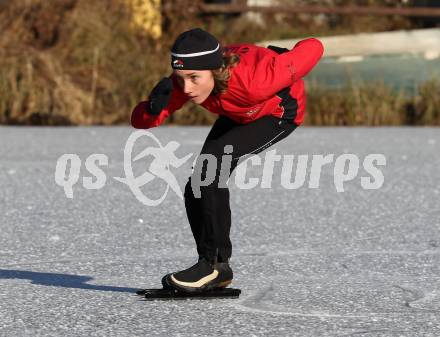
<svg viewBox="0 0 440 337"><path fill-rule="evenodd" d="M217 159L215 179L208 186L200 187L200 202L192 194L193 201L187 207L187 210L189 209L194 214L194 218L197 214L198 221L192 222L191 229L200 255L212 259L218 254L221 259L228 259L232 254L229 237L231 227L229 189L218 186L224 146L233 146L234 160L229 172L230 176L241 158L264 151L287 137L295 128L296 125L289 121L273 116L264 116L249 124L232 125L223 129L217 127L215 132L212 132L216 133L216 137L205 141L201 154L212 154ZM218 132L220 129L222 132ZM203 180L207 165L199 160L196 161L197 165L199 165L199 170L194 172L201 171ZM188 185L189 187L191 186ZM197 206L191 207L193 205Z"/></svg>

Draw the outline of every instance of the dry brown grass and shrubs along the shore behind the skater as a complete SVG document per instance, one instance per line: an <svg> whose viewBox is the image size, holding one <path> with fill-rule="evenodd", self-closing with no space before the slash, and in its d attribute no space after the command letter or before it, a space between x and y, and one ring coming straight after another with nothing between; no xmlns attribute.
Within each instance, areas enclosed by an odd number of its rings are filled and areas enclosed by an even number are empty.
<svg viewBox="0 0 440 337"><path fill-rule="evenodd" d="M346 17L335 23L269 15L268 30L243 17L191 17L180 10L165 18L157 40L133 30L123 0L48 3L11 1L0 7L0 124L129 124L136 103L171 72L168 50L175 32L194 26L224 44L412 28L399 18ZM307 82L306 89L304 125L440 125L438 79L411 94L381 82L339 89ZM209 125L215 119L188 103L165 124Z"/></svg>

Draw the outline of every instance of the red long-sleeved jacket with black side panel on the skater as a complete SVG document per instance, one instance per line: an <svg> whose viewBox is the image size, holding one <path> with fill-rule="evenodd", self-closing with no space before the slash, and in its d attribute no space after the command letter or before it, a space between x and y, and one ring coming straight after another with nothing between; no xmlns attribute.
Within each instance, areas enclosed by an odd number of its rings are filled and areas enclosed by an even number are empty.
<svg viewBox="0 0 440 337"><path fill-rule="evenodd" d="M227 91L210 95L201 103L204 108L242 124L265 115L285 118L296 125L303 122L306 96L302 77L312 70L323 54L324 48L319 40L301 40L292 50L282 54L252 44L234 44L225 49L239 54L240 63L231 69ZM152 116L146 110L148 101L140 102L131 116L133 127L159 126L189 100L175 76L171 75L171 78L174 89L168 105L159 115Z"/></svg>

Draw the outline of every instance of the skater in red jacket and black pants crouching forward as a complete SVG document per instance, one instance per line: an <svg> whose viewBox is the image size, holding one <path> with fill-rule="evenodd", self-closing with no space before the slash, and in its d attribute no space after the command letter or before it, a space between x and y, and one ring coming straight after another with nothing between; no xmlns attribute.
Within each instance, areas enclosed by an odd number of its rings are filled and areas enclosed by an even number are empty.
<svg viewBox="0 0 440 337"><path fill-rule="evenodd" d="M222 47L200 28L177 37L171 48L172 74L135 107L131 124L139 129L156 127L187 101L200 104L219 115L200 152L215 156L217 167L213 181L200 186L200 198L193 193L191 179L198 173L197 181L206 178L206 161L196 160L185 186L186 214L198 261L165 275L163 282L187 292L232 282L229 189L220 186L225 146L232 145L230 175L240 158L260 153L291 134L304 119L302 78L322 54L323 46L315 38L301 40L289 50L246 43Z"/></svg>

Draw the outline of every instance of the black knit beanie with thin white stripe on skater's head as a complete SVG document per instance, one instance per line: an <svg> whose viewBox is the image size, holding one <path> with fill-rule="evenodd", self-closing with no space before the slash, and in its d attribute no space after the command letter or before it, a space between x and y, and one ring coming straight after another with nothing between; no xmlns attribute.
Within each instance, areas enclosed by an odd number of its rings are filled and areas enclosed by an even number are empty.
<svg viewBox="0 0 440 337"><path fill-rule="evenodd" d="M171 48L173 69L208 70L223 65L222 47L217 39L200 28L180 34Z"/></svg>

